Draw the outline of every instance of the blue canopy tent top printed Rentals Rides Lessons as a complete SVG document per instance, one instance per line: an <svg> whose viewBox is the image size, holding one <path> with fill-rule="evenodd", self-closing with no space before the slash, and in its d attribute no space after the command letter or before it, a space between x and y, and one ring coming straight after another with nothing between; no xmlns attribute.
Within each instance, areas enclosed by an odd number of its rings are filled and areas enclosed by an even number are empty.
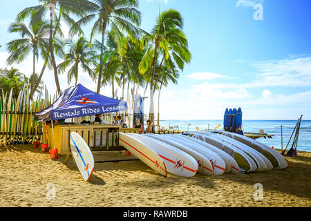
<svg viewBox="0 0 311 221"><path fill-rule="evenodd" d="M127 103L88 90L81 84L70 87L48 108L35 114L37 121L127 111Z"/></svg>

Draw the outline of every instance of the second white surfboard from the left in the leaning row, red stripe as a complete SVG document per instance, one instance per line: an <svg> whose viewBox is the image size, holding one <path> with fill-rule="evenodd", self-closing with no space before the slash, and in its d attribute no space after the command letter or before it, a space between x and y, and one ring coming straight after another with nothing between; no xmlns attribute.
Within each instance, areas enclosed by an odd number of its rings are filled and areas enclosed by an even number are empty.
<svg viewBox="0 0 311 221"><path fill-rule="evenodd" d="M180 151L178 148L170 146L169 144L163 145L158 140L144 135L129 133L131 137L135 137L140 142L151 146L153 151L164 160L167 166L167 171L182 177L192 177L198 171L198 162L194 160L189 154Z"/></svg>

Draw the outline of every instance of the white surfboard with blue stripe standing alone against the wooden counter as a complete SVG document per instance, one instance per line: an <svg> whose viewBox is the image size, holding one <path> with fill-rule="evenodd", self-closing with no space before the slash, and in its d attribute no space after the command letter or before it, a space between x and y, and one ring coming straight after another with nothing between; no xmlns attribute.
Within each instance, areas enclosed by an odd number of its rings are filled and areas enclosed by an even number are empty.
<svg viewBox="0 0 311 221"><path fill-rule="evenodd" d="M94 158L88 144L86 144L79 134L71 132L70 149L75 164L77 165L84 181L88 181L94 169Z"/></svg>

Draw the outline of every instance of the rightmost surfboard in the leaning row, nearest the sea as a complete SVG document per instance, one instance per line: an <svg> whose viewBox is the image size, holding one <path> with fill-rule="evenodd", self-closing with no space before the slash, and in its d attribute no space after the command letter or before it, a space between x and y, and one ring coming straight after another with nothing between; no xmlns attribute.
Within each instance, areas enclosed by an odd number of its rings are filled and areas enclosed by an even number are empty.
<svg viewBox="0 0 311 221"><path fill-rule="evenodd" d="M270 160L270 162L276 169L286 169L289 166L288 162L285 160L285 157L281 155L281 153L274 150L274 148L267 146L266 144L263 144L261 142L258 142L257 140L253 140L252 138L236 133L229 133L224 131L215 131L215 132L219 133L220 135L231 137L232 139L237 140L238 142L242 142L243 144L246 144L247 146L254 148L256 151L265 155L265 157L267 157L267 159Z"/></svg>

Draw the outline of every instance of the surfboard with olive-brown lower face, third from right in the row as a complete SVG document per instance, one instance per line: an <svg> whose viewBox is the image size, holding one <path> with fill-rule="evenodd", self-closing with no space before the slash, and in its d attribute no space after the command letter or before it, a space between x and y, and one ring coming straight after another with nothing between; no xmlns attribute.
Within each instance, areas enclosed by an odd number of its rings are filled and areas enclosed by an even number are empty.
<svg viewBox="0 0 311 221"><path fill-rule="evenodd" d="M234 160L238 163L238 167L240 168L240 171L256 171L257 166L254 160L252 160L251 157L249 157L246 153L241 151L240 149L224 143L220 140L217 140L215 137L208 136L202 133L191 133L192 137L202 140L204 142L207 142L208 144L211 144L213 146L216 146L217 148L220 148L220 150L225 151L226 153L229 153L232 157L234 157Z"/></svg>

